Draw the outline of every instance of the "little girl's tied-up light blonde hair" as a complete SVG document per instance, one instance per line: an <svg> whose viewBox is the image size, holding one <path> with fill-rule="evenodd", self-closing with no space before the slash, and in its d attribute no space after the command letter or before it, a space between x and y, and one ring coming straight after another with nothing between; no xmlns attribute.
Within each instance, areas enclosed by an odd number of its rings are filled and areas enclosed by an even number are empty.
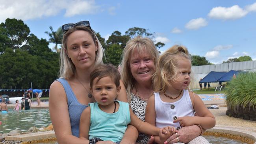
<svg viewBox="0 0 256 144"><path fill-rule="evenodd" d="M176 81L178 74L178 57L184 57L191 63L190 54L185 46L174 45L160 55L153 76L155 92L163 92L171 87L170 81Z"/></svg>

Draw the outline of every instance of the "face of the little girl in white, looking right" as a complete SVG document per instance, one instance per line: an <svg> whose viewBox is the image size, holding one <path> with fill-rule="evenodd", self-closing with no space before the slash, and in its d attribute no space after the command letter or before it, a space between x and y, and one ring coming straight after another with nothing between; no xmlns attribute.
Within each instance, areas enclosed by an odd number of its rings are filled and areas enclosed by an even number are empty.
<svg viewBox="0 0 256 144"><path fill-rule="evenodd" d="M184 57L178 57L178 75L176 81L172 81L171 85L174 89L186 89L190 83L191 63Z"/></svg>

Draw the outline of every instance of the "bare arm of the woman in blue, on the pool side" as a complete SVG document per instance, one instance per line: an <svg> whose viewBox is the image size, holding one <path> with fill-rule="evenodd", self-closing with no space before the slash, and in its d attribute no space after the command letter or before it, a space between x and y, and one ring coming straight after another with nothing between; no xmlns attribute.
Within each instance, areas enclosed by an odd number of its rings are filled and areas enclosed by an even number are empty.
<svg viewBox="0 0 256 144"><path fill-rule="evenodd" d="M58 81L50 86L49 111L59 144L86 144L85 140L72 135L66 93Z"/></svg>

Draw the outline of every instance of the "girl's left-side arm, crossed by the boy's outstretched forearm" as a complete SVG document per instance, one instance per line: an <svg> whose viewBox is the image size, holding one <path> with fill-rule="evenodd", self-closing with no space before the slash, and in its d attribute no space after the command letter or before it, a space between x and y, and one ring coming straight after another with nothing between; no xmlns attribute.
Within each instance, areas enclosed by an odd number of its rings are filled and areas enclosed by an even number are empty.
<svg viewBox="0 0 256 144"><path fill-rule="evenodd" d="M145 122L148 122L149 124L156 126L156 111L155 111L155 97L150 96L148 99L147 107L146 107L146 114L145 114ZM163 144L167 138L171 137L176 132L176 129L171 129L171 127L168 127L169 130L167 131L167 134L162 134L161 131L159 133L159 136L154 136L155 142L158 144ZM173 132L174 130L174 132Z"/></svg>

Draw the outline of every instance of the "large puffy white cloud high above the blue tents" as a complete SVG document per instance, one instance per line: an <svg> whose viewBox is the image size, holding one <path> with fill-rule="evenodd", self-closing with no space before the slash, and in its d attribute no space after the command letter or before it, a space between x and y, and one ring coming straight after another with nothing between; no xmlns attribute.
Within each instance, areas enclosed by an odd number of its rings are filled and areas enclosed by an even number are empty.
<svg viewBox="0 0 256 144"><path fill-rule="evenodd" d="M232 7L213 7L210 13L208 13L208 16L210 18L228 20L245 17L247 13L248 12L246 10L235 5Z"/></svg>

